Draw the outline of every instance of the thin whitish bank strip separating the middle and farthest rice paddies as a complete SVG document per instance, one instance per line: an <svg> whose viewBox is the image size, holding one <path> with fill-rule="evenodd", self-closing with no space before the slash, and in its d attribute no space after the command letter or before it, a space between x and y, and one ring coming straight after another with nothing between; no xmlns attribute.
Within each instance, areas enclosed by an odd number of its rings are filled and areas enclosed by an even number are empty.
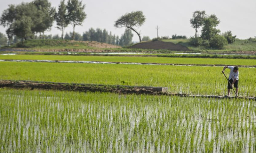
<svg viewBox="0 0 256 153"><path fill-rule="evenodd" d="M0 60L0 62L48 62L48 63L91 63L91 64L134 64L134 65L172 65L172 66L225 66L224 64L172 64L172 63L133 63L101 61L52 61L52 60ZM256 68L256 65L237 65L244 68Z"/></svg>

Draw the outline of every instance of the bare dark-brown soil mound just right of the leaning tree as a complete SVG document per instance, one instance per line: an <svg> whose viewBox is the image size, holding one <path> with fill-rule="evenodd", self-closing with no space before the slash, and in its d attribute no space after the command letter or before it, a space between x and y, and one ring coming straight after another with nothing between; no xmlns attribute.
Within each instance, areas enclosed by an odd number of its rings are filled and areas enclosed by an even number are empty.
<svg viewBox="0 0 256 153"><path fill-rule="evenodd" d="M141 49L166 49L166 50L174 50L174 51L189 51L189 49L180 44L174 44L172 42L164 42L164 41L147 41L135 44L130 48L141 48Z"/></svg>

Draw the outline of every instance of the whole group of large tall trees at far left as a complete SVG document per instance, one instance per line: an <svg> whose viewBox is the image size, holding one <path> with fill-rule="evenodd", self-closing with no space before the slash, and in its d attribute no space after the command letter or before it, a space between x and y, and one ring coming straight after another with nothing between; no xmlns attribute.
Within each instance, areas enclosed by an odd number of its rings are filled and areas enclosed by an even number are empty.
<svg viewBox="0 0 256 153"><path fill-rule="evenodd" d="M7 27L6 34L9 42L13 36L27 40L34 39L36 34L43 34L50 30L55 20L57 28L62 31L62 38L65 27L69 24L73 26L74 39L76 25L82 25L86 14L84 12L85 4L78 0L68 0L60 2L58 12L51 6L48 0L34 0L30 3L21 3L19 5L9 5L4 10L0 18L0 25Z"/></svg>

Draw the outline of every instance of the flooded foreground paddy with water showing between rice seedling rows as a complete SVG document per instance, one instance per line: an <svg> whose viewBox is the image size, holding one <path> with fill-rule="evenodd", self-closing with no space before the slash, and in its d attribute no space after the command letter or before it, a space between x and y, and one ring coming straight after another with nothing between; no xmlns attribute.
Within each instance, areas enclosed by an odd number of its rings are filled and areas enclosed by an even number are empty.
<svg viewBox="0 0 256 153"><path fill-rule="evenodd" d="M0 101L5 153L256 151L255 101L9 89Z"/></svg>

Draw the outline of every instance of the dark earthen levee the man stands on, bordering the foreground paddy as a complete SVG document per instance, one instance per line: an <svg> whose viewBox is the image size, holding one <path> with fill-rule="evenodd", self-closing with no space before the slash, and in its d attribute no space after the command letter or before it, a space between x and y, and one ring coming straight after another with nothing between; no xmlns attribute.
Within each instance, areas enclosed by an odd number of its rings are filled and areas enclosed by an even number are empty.
<svg viewBox="0 0 256 153"><path fill-rule="evenodd" d="M150 95L169 95L179 97L193 98L216 98L227 99L234 97L225 97L217 95L189 95L182 93L170 93L167 87L146 87L146 86L126 86L126 85L102 85L102 84L69 84L57 82L28 81L28 80L0 80L0 88L16 89L43 89L60 91L79 91L79 92L114 92L119 94L150 94ZM239 99L256 100L256 97L238 97Z"/></svg>

